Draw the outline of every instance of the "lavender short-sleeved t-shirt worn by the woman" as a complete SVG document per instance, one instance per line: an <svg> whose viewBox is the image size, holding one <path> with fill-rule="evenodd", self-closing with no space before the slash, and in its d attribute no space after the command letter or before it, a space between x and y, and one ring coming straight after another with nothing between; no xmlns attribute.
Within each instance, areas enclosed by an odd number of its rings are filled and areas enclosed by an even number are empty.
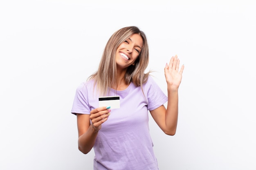
<svg viewBox="0 0 256 170"><path fill-rule="evenodd" d="M99 107L99 95L93 89L93 80L76 89L71 113L90 114ZM143 91L133 83L124 91L110 89L109 96L120 96L120 108L110 108L110 116L98 132L93 146L94 170L158 170L148 110L162 106L167 97L150 76Z"/></svg>

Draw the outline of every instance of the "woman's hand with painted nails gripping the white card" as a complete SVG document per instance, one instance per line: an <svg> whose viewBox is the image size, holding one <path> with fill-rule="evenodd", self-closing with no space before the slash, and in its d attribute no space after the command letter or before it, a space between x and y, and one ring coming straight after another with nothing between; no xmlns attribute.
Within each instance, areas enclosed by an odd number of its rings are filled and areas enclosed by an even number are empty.
<svg viewBox="0 0 256 170"><path fill-rule="evenodd" d="M90 119L92 121L92 127L94 130L99 131L101 129L101 124L108 120L110 115L110 106L95 108L90 112Z"/></svg>

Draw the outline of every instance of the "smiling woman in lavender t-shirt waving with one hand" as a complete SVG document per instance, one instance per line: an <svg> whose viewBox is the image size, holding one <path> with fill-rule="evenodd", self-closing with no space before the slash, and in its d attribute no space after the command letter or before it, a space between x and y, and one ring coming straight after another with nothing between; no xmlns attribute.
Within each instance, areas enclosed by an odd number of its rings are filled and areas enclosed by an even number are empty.
<svg viewBox="0 0 256 170"><path fill-rule="evenodd" d="M84 154L94 148L94 170L158 170L148 110L164 133L175 135L184 65L179 71L177 56L166 64L166 97L144 73L148 57L144 32L136 26L119 29L108 40L98 71L76 89L71 113L77 116L78 147ZM119 96L120 108L99 107L102 96Z"/></svg>

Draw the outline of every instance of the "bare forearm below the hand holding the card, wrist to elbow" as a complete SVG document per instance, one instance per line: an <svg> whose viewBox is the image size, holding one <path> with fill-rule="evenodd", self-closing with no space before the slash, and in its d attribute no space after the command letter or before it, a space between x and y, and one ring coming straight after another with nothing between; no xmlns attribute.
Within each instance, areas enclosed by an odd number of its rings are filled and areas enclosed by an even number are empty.
<svg viewBox="0 0 256 170"><path fill-rule="evenodd" d="M78 148L84 154L90 152L94 146L98 131L92 128L92 125L89 126L88 130L78 138Z"/></svg>

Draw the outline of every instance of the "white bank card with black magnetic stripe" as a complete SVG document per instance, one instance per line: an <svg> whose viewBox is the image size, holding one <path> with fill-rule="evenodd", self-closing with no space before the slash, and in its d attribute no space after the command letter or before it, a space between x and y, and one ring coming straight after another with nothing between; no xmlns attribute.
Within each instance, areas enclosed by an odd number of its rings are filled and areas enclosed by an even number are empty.
<svg viewBox="0 0 256 170"><path fill-rule="evenodd" d="M120 97L119 96L99 97L99 107L101 106L110 106L110 109L120 108Z"/></svg>

